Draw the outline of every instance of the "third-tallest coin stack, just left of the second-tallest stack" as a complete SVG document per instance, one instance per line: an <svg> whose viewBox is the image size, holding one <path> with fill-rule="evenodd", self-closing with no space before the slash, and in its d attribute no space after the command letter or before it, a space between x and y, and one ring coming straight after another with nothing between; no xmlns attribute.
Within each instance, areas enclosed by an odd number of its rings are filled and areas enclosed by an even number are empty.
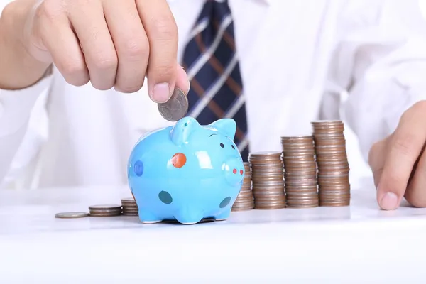
<svg viewBox="0 0 426 284"><path fill-rule="evenodd" d="M284 168L281 152L250 153L255 209L285 207Z"/></svg>

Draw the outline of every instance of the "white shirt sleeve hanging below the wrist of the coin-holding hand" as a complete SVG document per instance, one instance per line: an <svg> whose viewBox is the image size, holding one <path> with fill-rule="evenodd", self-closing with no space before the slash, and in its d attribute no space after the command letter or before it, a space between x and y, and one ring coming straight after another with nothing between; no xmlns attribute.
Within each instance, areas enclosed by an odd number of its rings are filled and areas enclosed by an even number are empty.
<svg viewBox="0 0 426 284"><path fill-rule="evenodd" d="M48 92L51 80L49 74L26 89L0 89L0 183L26 135L31 111L40 95Z"/></svg>

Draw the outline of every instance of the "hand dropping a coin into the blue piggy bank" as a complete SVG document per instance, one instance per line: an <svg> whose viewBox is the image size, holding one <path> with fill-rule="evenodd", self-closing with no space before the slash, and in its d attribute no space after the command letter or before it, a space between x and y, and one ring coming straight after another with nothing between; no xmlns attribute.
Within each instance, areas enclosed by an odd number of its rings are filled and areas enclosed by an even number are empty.
<svg viewBox="0 0 426 284"><path fill-rule="evenodd" d="M178 29L166 0L44 0L26 23L24 44L75 86L136 92L148 78L154 102L189 89L178 65Z"/></svg>

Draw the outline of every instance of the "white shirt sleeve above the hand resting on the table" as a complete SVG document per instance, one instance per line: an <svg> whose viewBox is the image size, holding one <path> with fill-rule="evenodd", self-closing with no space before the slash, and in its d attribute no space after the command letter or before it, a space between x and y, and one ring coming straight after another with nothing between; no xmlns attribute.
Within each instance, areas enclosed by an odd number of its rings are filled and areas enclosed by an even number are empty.
<svg viewBox="0 0 426 284"><path fill-rule="evenodd" d="M322 113L340 110L327 119L344 119L368 161L373 143L426 99L426 23L418 0L352 1L342 18Z"/></svg>

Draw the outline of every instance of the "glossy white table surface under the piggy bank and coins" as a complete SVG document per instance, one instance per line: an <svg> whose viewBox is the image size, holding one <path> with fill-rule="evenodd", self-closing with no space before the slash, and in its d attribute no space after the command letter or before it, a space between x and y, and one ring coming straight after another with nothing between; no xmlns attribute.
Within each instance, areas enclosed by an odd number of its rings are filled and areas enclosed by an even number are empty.
<svg viewBox="0 0 426 284"><path fill-rule="evenodd" d="M55 219L117 203L124 188L0 192L0 283L426 283L426 209L233 212L225 222Z"/></svg>

